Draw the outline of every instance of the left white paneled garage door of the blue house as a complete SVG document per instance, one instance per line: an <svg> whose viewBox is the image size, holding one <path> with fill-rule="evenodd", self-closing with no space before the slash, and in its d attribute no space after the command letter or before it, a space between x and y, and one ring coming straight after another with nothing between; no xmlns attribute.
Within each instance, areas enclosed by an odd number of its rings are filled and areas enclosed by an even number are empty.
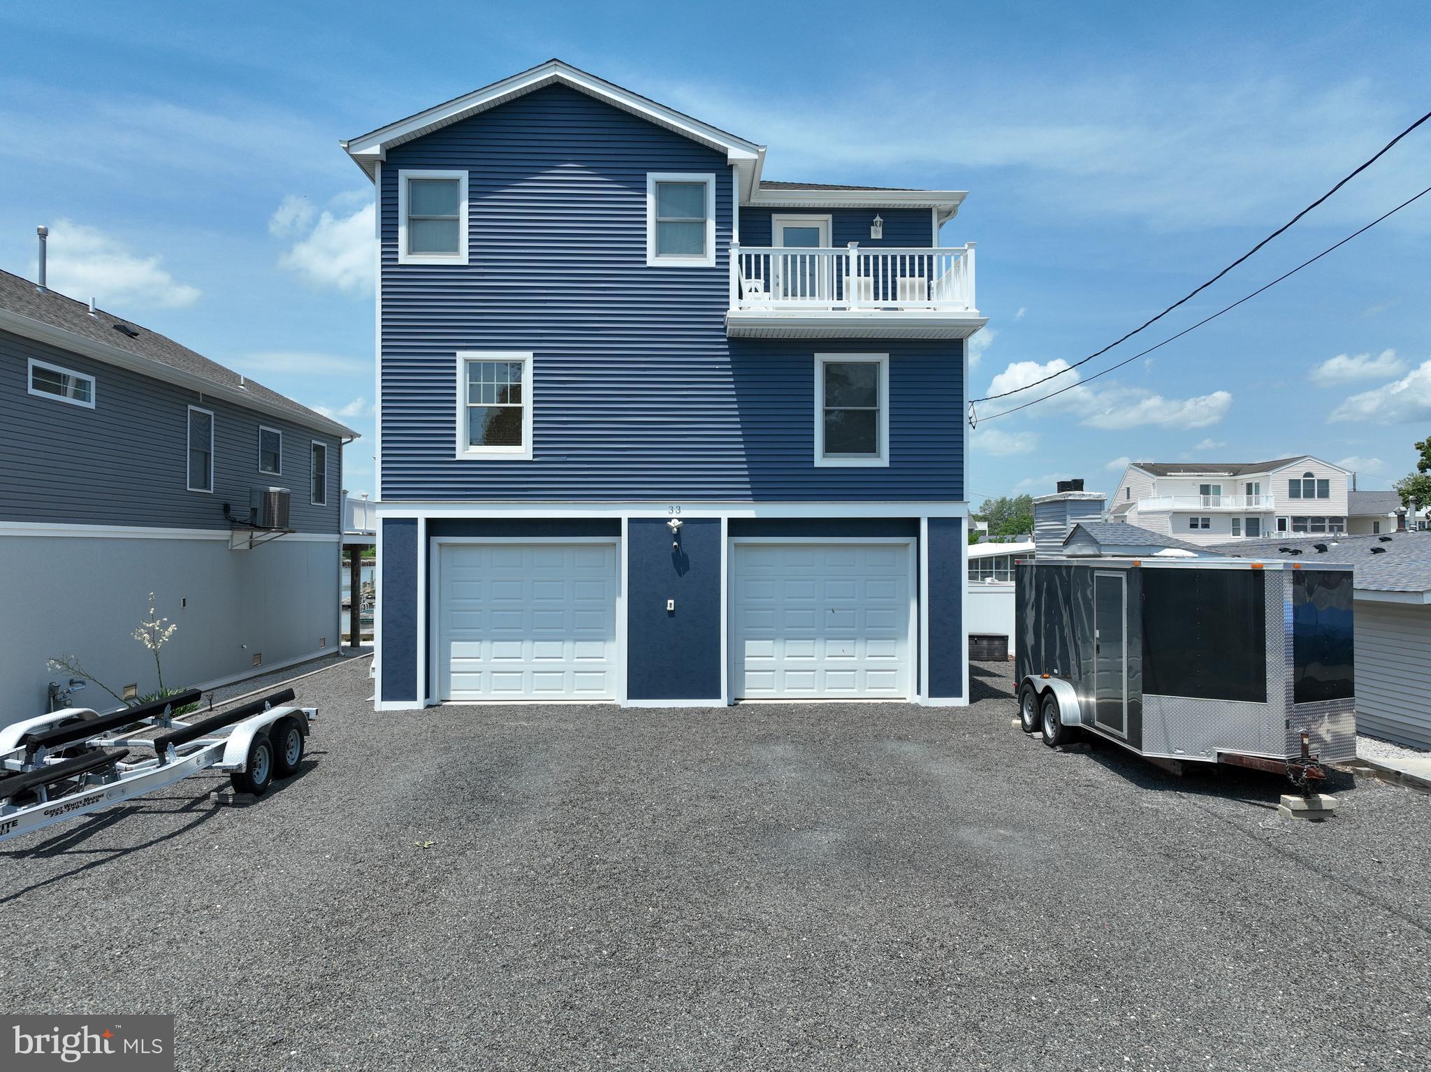
<svg viewBox="0 0 1431 1072"><path fill-rule="evenodd" d="M612 700L615 544L438 544L438 700Z"/></svg>

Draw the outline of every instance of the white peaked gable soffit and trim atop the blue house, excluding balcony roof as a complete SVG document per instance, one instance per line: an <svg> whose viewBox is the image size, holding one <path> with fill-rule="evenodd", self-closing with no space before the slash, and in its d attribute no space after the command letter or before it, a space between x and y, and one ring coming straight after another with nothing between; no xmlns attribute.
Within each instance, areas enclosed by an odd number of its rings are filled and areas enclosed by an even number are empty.
<svg viewBox="0 0 1431 1072"><path fill-rule="evenodd" d="M353 157L371 179L375 173L375 165L385 159L388 149L392 146L422 137L449 123L456 123L468 116L475 116L478 112L505 104L525 93L554 84L570 86L597 100L604 100L608 104L620 107L622 112L630 112L657 126L664 126L667 130L674 130L708 149L726 153L727 163L734 165L741 173L741 196L748 196L750 189L754 186L757 165L766 153L764 146L703 123L698 119L693 119L673 107L643 97L640 93L633 93L628 89L612 84L605 79L598 79L595 74L588 74L561 60L547 60L531 70L524 70L501 82L494 82L491 86L475 89L461 97L435 104L415 116L399 119L396 123L389 123L339 145L342 145L346 153Z"/></svg>

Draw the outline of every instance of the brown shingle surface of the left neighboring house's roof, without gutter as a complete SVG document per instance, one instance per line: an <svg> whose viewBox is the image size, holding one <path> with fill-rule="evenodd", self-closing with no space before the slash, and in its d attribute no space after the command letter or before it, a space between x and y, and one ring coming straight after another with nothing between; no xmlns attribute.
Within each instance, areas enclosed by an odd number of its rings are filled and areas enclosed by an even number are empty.
<svg viewBox="0 0 1431 1072"><path fill-rule="evenodd" d="M358 432L339 421L326 418L306 405L295 402L288 395L270 391L255 379L240 376L238 372L225 368L216 361L209 361L202 354L195 354L187 346L182 346L159 332L140 328L103 309L96 309L94 315L90 316L87 303L66 298L54 291L40 291L24 276L13 275L3 269L0 269L0 309L39 321L52 328L60 328L90 342L116 346L137 358L156 361L179 372L209 381L215 386L242 389L255 402L283 411L299 424L316 427L331 434L342 429L343 435L358 435ZM123 325L123 329L119 325Z"/></svg>

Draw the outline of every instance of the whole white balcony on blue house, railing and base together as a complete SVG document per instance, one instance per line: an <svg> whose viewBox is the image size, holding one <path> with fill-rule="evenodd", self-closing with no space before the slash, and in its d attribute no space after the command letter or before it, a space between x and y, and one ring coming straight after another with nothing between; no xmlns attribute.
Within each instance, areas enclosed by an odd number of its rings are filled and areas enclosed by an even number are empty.
<svg viewBox="0 0 1431 1072"><path fill-rule="evenodd" d="M975 243L952 249L730 250L730 338L963 339L975 305Z"/></svg>

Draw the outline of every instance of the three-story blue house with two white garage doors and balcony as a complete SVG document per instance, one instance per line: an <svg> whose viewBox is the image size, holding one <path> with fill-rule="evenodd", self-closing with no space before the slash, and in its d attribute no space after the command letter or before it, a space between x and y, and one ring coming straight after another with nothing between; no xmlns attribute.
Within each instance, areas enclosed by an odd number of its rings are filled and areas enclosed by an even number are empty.
<svg viewBox="0 0 1431 1072"><path fill-rule="evenodd" d="M560 60L343 149L381 708L967 703L962 192L768 182Z"/></svg>

